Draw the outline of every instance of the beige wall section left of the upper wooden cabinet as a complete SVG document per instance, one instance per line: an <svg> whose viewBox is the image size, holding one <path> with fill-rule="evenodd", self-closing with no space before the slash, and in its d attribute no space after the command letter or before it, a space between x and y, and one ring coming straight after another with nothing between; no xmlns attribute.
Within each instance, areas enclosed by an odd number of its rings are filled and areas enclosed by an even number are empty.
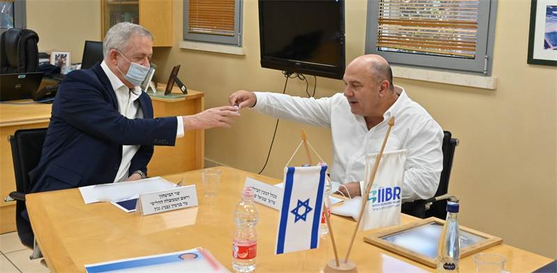
<svg viewBox="0 0 557 273"><path fill-rule="evenodd" d="M85 40L100 40L100 0L27 0L26 8L39 52L70 50L72 63L81 63Z"/></svg>

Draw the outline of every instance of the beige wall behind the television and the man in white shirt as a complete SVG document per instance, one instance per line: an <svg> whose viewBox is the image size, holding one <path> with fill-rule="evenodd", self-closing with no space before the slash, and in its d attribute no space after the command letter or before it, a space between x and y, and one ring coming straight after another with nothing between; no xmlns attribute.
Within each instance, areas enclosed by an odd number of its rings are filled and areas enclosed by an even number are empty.
<svg viewBox="0 0 557 273"><path fill-rule="evenodd" d="M157 76L181 64L180 78L205 91L206 107L227 103L233 91L281 91L281 72L260 68L257 1L244 1L245 56L179 49L182 1L174 1L174 47L156 49ZM366 1L346 1L347 60L364 52ZM530 1L501 0L496 22L495 91L395 79L442 127L460 139L450 192L462 200L460 219L506 243L557 258L555 68L526 64ZM313 78L311 79L313 84ZM288 93L303 95L305 84L290 80ZM338 80L317 79L317 97L342 90ZM324 128L281 121L264 174L281 177L305 128L313 146L331 159L331 135ZM242 111L233 129L208 130L205 156L248 171L262 167L274 119ZM298 161L300 162L300 161Z"/></svg>

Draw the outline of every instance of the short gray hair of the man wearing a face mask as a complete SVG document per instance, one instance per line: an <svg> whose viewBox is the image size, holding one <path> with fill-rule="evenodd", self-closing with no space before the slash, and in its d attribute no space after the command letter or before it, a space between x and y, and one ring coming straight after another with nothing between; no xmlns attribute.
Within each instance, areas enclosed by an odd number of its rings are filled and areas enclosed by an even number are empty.
<svg viewBox="0 0 557 273"><path fill-rule="evenodd" d="M132 37L132 34L139 36L148 36L153 40L152 34L143 26L139 24L132 24L128 22L121 22L112 26L107 35L104 36L104 42L102 43L102 55L107 58L110 49L117 49L120 52L124 52L127 42Z"/></svg>

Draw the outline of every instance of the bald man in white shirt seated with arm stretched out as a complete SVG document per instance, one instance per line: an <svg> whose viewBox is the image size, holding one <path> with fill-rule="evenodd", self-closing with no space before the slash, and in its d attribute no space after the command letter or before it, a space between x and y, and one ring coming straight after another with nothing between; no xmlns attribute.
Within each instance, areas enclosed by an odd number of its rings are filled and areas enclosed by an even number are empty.
<svg viewBox="0 0 557 273"><path fill-rule="evenodd" d="M441 127L408 98L404 89L393 85L391 67L381 56L354 59L343 80L344 93L329 98L240 90L228 101L240 109L253 107L277 118L330 127L334 152L331 180L343 183L351 196L361 194L366 154L379 151L387 122L394 116L395 126L385 149L407 149L402 201L434 196L443 169Z"/></svg>

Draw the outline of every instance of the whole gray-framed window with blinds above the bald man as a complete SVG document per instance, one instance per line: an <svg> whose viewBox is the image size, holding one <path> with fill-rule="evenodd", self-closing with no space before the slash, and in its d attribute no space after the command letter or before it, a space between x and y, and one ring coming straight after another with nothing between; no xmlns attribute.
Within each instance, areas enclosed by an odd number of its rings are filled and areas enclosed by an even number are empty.
<svg viewBox="0 0 557 273"><path fill-rule="evenodd" d="M366 54L491 75L498 0L368 0Z"/></svg>

